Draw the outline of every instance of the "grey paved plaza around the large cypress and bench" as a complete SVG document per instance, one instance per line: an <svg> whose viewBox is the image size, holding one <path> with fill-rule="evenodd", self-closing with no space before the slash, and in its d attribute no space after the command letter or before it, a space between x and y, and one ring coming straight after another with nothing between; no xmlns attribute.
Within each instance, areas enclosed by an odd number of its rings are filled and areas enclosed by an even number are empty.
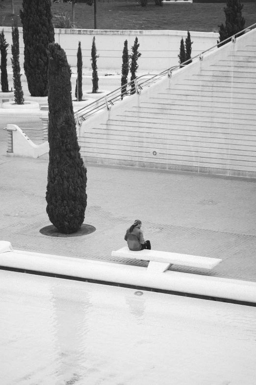
<svg viewBox="0 0 256 385"><path fill-rule="evenodd" d="M153 249L222 258L212 270L180 268L218 277L256 281L256 180L184 172L87 164L84 223L96 231L82 237L47 237L47 159L7 157L7 123L23 127L39 116L0 115L0 239L13 248L77 258L147 266L111 257L126 245L134 219L142 220Z"/></svg>

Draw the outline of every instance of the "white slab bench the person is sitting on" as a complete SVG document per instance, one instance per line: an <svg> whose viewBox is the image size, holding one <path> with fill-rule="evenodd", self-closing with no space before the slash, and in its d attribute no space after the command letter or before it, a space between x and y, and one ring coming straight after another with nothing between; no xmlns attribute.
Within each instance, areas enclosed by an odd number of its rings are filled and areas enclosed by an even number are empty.
<svg viewBox="0 0 256 385"><path fill-rule="evenodd" d="M149 272L164 272L171 265L211 269L222 262L222 259L219 258L198 257L197 255L168 253L166 251L131 251L128 246L112 251L111 256L150 261L147 268Z"/></svg>

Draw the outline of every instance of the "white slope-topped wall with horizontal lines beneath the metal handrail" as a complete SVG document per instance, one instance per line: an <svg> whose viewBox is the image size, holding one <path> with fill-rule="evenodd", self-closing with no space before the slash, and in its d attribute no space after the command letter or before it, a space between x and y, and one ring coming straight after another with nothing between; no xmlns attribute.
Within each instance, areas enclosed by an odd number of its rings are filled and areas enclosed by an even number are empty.
<svg viewBox="0 0 256 385"><path fill-rule="evenodd" d="M78 130L86 162L256 178L256 30Z"/></svg>

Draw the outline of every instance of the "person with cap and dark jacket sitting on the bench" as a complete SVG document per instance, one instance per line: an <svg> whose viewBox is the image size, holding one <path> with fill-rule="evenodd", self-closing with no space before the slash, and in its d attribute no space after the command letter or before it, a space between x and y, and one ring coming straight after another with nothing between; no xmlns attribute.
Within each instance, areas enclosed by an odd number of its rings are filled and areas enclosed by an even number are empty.
<svg viewBox="0 0 256 385"><path fill-rule="evenodd" d="M128 228L125 240L128 243L129 250L139 251L143 249L151 250L151 244L149 240L144 240L141 228L141 221L136 219L134 223Z"/></svg>

